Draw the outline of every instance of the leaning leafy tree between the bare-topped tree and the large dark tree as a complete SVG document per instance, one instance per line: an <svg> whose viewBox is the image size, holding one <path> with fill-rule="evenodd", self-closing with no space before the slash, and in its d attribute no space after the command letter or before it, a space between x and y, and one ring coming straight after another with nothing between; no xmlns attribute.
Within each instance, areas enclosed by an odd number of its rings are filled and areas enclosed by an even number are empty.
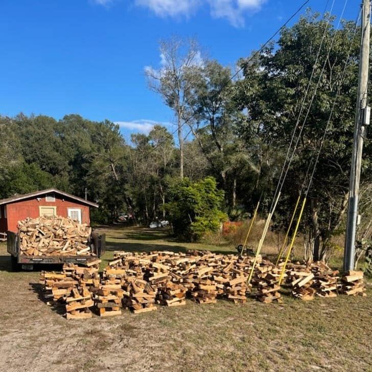
<svg viewBox="0 0 372 372"><path fill-rule="evenodd" d="M189 126L235 208L237 179L251 160L238 133L231 71L217 61L207 61L197 73L199 78L188 97L189 110L196 120Z"/></svg>

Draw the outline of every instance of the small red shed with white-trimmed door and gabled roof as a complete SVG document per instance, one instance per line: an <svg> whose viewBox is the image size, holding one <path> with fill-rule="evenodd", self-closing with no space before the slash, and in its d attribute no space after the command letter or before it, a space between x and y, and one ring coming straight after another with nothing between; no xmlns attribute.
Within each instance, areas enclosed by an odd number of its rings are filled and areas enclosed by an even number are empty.
<svg viewBox="0 0 372 372"><path fill-rule="evenodd" d="M36 191L0 200L0 232L17 231L17 222L26 217L71 217L90 224L89 207L98 204L57 189Z"/></svg>

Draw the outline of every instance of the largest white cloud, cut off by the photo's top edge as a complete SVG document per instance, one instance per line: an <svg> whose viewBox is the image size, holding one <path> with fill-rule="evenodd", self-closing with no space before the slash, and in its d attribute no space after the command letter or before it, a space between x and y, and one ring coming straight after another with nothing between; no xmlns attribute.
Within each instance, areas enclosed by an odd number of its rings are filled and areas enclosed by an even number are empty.
<svg viewBox="0 0 372 372"><path fill-rule="evenodd" d="M105 1L105 0L98 0ZM160 17L190 16L203 3L215 18L226 18L235 27L244 26L244 15L257 12L267 0L134 0L135 5L150 9Z"/></svg>

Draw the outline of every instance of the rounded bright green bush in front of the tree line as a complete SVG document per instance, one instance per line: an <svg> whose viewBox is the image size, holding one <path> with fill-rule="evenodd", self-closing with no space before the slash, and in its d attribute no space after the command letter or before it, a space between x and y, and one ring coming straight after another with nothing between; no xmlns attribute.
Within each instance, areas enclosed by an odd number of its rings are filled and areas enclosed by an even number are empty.
<svg viewBox="0 0 372 372"><path fill-rule="evenodd" d="M221 211L224 192L217 190L216 180L206 177L198 182L177 180L170 189L166 210L175 234L186 240L199 240L205 233L217 231L227 220Z"/></svg>

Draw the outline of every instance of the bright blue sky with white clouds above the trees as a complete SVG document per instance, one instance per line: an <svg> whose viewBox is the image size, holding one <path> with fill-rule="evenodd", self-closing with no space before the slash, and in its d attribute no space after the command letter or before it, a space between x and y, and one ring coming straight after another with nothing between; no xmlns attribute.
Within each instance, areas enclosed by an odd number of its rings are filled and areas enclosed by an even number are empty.
<svg viewBox="0 0 372 372"><path fill-rule="evenodd" d="M159 67L158 41L195 37L232 68L266 41L303 0L1 0L0 114L78 113L122 123L122 132L171 123L147 87ZM332 0L329 0L328 9ZM359 1L344 18L355 19ZM322 12L326 0L307 6ZM344 0L335 0L340 14ZM292 21L298 19L298 16ZM172 127L170 126L172 129Z"/></svg>

